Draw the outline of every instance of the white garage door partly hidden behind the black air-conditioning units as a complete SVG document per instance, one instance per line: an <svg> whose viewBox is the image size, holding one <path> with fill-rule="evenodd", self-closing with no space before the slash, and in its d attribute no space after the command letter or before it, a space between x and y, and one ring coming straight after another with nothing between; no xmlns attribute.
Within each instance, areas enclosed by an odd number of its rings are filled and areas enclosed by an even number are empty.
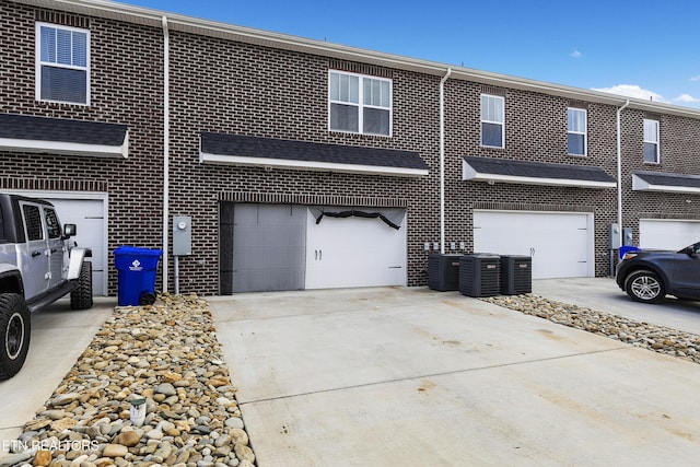
<svg viewBox="0 0 700 467"><path fill-rule="evenodd" d="M533 279L593 277L593 215L475 211L474 250L533 258Z"/></svg>

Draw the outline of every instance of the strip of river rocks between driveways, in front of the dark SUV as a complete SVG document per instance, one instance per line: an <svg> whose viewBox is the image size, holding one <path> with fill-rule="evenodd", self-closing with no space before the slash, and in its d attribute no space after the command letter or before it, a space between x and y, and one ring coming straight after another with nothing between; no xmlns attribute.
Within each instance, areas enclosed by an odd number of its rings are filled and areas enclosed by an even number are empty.
<svg viewBox="0 0 700 467"><path fill-rule="evenodd" d="M700 363L700 336L533 294L480 299L526 315L586 330L634 347Z"/></svg>

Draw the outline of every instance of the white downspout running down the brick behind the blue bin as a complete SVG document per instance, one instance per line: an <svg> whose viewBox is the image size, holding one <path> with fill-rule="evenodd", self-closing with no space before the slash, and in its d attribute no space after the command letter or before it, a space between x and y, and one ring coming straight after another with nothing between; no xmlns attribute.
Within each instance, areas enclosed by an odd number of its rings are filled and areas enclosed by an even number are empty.
<svg viewBox="0 0 700 467"><path fill-rule="evenodd" d="M167 293L167 234L170 218L170 85L171 85L171 36L167 17L163 16L163 293Z"/></svg>

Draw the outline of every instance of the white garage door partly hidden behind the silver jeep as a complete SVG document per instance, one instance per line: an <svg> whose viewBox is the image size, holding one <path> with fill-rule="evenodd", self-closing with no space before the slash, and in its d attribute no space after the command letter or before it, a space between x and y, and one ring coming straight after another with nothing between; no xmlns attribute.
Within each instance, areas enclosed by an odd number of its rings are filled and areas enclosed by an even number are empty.
<svg viewBox="0 0 700 467"><path fill-rule="evenodd" d="M75 224L78 246L92 249L93 295L107 294L107 196L72 191L13 191L50 201L61 224Z"/></svg>

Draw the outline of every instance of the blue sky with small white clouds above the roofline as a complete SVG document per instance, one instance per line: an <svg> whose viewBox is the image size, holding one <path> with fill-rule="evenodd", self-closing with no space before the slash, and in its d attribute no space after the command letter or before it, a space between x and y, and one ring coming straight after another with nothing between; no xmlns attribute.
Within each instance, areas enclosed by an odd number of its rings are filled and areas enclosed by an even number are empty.
<svg viewBox="0 0 700 467"><path fill-rule="evenodd" d="M122 2L700 108L695 0Z"/></svg>

